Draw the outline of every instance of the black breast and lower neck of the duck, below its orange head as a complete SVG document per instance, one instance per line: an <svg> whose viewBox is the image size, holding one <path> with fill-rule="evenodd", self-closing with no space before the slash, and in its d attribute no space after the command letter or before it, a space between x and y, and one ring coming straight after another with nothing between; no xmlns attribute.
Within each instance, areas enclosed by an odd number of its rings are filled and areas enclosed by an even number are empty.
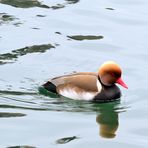
<svg viewBox="0 0 148 148"><path fill-rule="evenodd" d="M101 92L94 97L93 101L104 103L104 102L115 101L120 97L121 97L121 91L119 87L117 87L116 85L103 86Z"/></svg>

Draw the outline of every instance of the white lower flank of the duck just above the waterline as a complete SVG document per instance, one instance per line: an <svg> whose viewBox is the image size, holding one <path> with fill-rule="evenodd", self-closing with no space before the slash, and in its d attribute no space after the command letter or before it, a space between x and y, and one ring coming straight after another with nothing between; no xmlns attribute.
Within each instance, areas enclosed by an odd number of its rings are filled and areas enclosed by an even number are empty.
<svg viewBox="0 0 148 148"><path fill-rule="evenodd" d="M87 101L92 100L94 96L96 95L96 93L91 93L91 92L77 93L76 91L71 90L71 89L65 89L63 91L60 91L59 94L64 97L71 98L74 100L87 100Z"/></svg>

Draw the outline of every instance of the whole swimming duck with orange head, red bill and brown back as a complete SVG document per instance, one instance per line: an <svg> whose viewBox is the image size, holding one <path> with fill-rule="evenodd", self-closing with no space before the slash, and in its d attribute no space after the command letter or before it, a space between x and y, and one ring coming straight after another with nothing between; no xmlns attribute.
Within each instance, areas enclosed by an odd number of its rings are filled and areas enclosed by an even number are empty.
<svg viewBox="0 0 148 148"><path fill-rule="evenodd" d="M42 86L60 96L95 102L110 102L121 97L119 84L128 88L121 78L122 70L114 61L104 62L97 72L75 72L51 78Z"/></svg>

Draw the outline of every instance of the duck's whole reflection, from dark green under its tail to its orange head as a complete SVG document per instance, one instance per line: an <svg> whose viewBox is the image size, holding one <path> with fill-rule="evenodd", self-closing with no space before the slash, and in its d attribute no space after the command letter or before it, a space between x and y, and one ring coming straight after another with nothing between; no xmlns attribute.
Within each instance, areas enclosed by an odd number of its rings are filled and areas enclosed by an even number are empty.
<svg viewBox="0 0 148 148"><path fill-rule="evenodd" d="M99 103L91 104L90 102L86 102L86 101L81 102L81 101L76 101L72 99L66 99L65 97L51 94L42 87L39 89L39 92L41 94L50 96L51 98L60 98L60 99L57 99L57 101L53 101L48 104L48 105L54 104L53 110L68 111L68 112L69 111L70 112L84 112L84 111L97 112L96 121L99 124L100 136L104 138L114 138L116 136L116 133L119 127L119 121L118 121L119 110L117 108L120 105L120 101L103 103L103 104L99 104ZM58 105L57 107L55 106L56 104ZM66 104L68 108L67 107L63 108L64 104ZM47 105L47 102L46 102L46 105Z"/></svg>

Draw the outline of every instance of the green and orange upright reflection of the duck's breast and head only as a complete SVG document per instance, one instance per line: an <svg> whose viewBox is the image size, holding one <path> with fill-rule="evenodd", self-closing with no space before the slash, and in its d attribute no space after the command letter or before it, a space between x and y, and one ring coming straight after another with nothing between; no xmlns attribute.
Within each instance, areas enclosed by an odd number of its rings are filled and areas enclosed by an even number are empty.
<svg viewBox="0 0 148 148"><path fill-rule="evenodd" d="M119 104L119 103L118 103ZM100 126L99 133L104 138L114 138L119 127L117 103L105 103L99 106L100 111L96 121Z"/></svg>

